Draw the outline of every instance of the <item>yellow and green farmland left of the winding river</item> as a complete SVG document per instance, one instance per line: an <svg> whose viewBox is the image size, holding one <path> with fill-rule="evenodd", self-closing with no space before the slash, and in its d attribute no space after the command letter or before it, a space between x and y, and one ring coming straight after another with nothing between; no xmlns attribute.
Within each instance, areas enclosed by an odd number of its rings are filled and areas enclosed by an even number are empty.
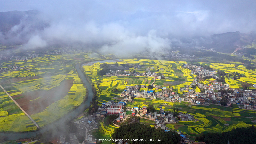
<svg viewBox="0 0 256 144"><path fill-rule="evenodd" d="M73 64L62 55L52 55L2 63L20 65L18 70L0 73L0 84L18 104L42 127L79 106L86 94ZM36 126L0 90L0 131L27 132Z"/></svg>

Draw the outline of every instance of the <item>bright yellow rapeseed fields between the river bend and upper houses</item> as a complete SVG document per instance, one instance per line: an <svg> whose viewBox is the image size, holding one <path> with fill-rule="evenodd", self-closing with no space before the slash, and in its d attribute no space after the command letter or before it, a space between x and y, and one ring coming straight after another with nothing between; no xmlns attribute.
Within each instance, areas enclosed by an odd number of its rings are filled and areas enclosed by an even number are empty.
<svg viewBox="0 0 256 144"><path fill-rule="evenodd" d="M175 62L175 61L163 61L163 60L148 60L148 59L123 59L122 62L118 62L118 64L140 64L144 67L142 68L130 68L130 70L136 70L137 72L143 73L145 72L145 68L150 67L150 71L161 73L165 77L165 79L156 79L156 85L160 86L173 86L174 89L180 94L180 87L185 87L187 84L190 85L195 77L195 75L190 74L190 70L183 68L182 66L186 64L186 62ZM85 70L85 74L90 77L92 82L94 83L95 88L100 92L101 96L107 96L108 98L113 98L115 94L111 95L110 90L113 87L118 89L124 89L127 85L151 85L154 81L154 77L145 76L145 77L137 77L137 76L99 76L97 72L100 71L100 64L95 63L92 66L83 66ZM101 91L96 86L96 82L99 82L100 88L106 90L105 88L110 88L106 91ZM140 89L144 90L143 88ZM147 89L145 89L147 90ZM103 98L103 100L107 100L108 98Z"/></svg>

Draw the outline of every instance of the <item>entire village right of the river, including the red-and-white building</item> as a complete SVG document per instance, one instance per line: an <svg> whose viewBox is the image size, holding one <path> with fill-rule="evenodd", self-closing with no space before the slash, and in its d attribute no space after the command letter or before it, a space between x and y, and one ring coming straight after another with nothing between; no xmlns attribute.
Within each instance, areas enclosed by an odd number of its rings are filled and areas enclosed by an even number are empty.
<svg viewBox="0 0 256 144"><path fill-rule="evenodd" d="M137 65L136 67L141 67ZM174 109L174 112L165 111L164 106L160 105L160 110L151 112L148 111L149 106L142 107L128 107L126 104L136 101L136 98L145 98L150 100L164 100L166 102L187 102L190 103L191 106L203 105L209 106L210 104L222 105L225 107L231 107L232 104L238 105L241 109L255 110L255 96L256 91L252 90L243 90L243 89L234 89L229 88L228 84L223 84L222 82L218 82L217 80L210 79L210 85L202 84L198 79L203 77L212 76L215 79L219 77L215 76L216 71L214 70L206 70L201 66L196 65L185 65L184 67L191 68L193 67L193 71L191 73L197 73L199 76L193 80L190 85L186 85L184 88L180 88L180 91L183 94L178 94L173 91L172 87L159 86L156 84L153 85L135 85L135 86L126 86L126 89L120 93L120 97L123 98L119 102L115 103L113 100L108 102L104 102L101 104L101 107L98 109L98 112L94 113L96 119L104 118L106 115L116 115L118 116L113 124L118 124L122 121L125 121L131 117L139 117L143 119L152 120L155 122L155 128L161 128L165 131L169 131L170 129L166 127L165 124L178 123L179 121L198 121L197 118L194 118L194 115L188 113L179 112L178 109ZM150 68L148 68L150 69ZM163 75L158 76L155 72L150 72L146 69L147 72L144 73L136 73L135 76L155 76L155 79L164 78L161 77ZM106 75L115 75L113 73L106 73ZM196 92L196 87L201 90L201 92ZM148 88L148 90L141 90L143 88ZM154 90L152 90L154 89ZM155 91L159 90L161 91ZM129 111L130 113L127 113ZM118 125L116 125L118 126ZM181 131L175 131L179 133L182 137L182 140L185 142L191 142L189 138L186 137L184 133Z"/></svg>

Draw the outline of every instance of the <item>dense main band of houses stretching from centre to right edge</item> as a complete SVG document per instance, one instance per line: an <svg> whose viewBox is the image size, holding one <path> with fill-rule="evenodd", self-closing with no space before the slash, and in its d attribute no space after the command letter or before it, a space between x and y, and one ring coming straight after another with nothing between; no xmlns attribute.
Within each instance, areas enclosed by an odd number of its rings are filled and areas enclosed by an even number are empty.
<svg viewBox="0 0 256 144"><path fill-rule="evenodd" d="M231 106L232 104L238 104L238 105L248 104L249 106L245 105L244 108L256 109L255 108L256 107L255 106L256 91L232 89L232 88L229 88L228 84L222 84L222 82L215 82L213 83L213 85L212 84L203 85L197 82L195 82L195 84L198 84L198 87L200 87L201 89L204 89L204 92L194 92L191 85L187 85L185 88L180 89L181 91L188 90L188 92L184 93L181 96L175 92L172 92L172 88L153 85L153 87L156 90L161 89L162 91L160 92L159 91L155 92L154 90L139 91L140 86L136 85L136 86L127 86L124 92L121 93L121 97L127 96L127 98L129 98L127 100L130 102L133 100L133 98L140 97L140 98L148 98L148 99L161 99L167 102L185 101L192 104L207 105L207 106L209 106L210 103L220 105L223 98L225 98L227 100L227 106ZM141 88L145 88L145 87L146 87L145 85L141 85ZM230 90L232 93L227 92L226 94L226 93L216 92L214 91L216 87L221 88L223 90Z"/></svg>

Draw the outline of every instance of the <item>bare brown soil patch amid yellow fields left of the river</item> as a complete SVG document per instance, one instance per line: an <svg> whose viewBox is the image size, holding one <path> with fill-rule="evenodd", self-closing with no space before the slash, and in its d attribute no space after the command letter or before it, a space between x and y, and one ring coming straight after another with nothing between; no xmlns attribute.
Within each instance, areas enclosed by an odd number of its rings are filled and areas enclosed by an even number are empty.
<svg viewBox="0 0 256 144"><path fill-rule="evenodd" d="M12 97L15 99L24 96L23 98L17 99L17 103L28 113L28 115L36 114L43 111L53 102L66 96L73 85L73 81L74 80L63 80L60 83L60 86L56 86L48 91L36 90Z"/></svg>

